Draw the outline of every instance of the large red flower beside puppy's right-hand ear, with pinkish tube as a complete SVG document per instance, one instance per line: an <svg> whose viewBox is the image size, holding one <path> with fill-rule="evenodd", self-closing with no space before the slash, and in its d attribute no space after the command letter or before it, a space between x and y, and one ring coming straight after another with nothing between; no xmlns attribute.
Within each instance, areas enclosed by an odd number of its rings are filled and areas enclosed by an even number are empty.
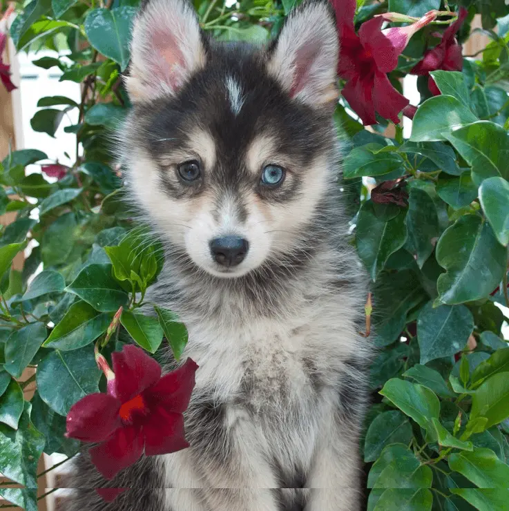
<svg viewBox="0 0 509 511"><path fill-rule="evenodd" d="M398 123L408 99L392 86L387 73L396 69L398 56L412 35L436 18L436 11L403 28L381 30L383 17L363 23L356 34L356 0L331 0L336 10L340 41L338 75L347 81L342 94L363 124L376 124L375 112ZM387 15L385 15L387 16Z"/></svg>

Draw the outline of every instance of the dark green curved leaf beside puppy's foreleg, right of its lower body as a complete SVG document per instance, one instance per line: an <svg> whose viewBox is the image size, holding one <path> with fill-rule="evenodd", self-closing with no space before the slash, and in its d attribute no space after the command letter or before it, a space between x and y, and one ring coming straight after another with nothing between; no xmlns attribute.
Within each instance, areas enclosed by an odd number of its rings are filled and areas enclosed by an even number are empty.
<svg viewBox="0 0 509 511"><path fill-rule="evenodd" d="M414 436L408 419L397 410L376 416L367 429L364 461L375 461L383 448L391 443L410 443Z"/></svg>

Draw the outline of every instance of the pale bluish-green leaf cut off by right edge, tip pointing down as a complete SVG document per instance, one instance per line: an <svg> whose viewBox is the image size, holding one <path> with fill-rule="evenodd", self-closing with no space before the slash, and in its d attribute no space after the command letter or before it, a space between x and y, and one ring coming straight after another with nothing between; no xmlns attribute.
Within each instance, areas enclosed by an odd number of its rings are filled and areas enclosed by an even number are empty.
<svg viewBox="0 0 509 511"><path fill-rule="evenodd" d="M501 177L489 177L479 186L479 200L497 240L509 243L509 182Z"/></svg>

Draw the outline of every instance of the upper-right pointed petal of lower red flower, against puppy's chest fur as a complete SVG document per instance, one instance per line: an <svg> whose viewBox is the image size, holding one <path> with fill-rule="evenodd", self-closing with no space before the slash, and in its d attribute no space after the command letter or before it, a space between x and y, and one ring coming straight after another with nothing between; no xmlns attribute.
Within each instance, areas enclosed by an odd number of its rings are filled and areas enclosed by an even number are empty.
<svg viewBox="0 0 509 511"><path fill-rule="evenodd" d="M184 365L163 376L144 392L144 397L149 403L161 405L169 412L184 412L195 386L196 369L198 365L188 358Z"/></svg>

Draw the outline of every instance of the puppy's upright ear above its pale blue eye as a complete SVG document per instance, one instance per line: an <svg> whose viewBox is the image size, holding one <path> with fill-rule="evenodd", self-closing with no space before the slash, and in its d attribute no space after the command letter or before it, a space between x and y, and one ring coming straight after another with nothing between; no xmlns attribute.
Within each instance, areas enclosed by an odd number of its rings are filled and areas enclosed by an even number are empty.
<svg viewBox="0 0 509 511"><path fill-rule="evenodd" d="M291 97L311 106L334 108L338 35L327 0L305 0L294 9L269 51L269 73Z"/></svg>

